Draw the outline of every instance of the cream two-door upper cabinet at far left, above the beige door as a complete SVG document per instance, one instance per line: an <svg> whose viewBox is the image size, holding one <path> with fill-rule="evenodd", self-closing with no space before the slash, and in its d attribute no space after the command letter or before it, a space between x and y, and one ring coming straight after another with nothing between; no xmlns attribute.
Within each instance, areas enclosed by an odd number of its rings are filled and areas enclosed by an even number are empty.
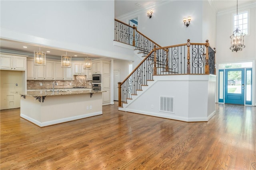
<svg viewBox="0 0 256 170"><path fill-rule="evenodd" d="M23 55L0 54L0 69L2 70L26 70L26 58Z"/></svg>

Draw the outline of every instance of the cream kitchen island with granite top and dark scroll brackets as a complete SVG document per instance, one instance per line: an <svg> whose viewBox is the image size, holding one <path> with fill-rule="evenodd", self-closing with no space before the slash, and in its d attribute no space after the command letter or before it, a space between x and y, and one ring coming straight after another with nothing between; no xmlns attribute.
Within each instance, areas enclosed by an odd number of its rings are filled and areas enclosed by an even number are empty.
<svg viewBox="0 0 256 170"><path fill-rule="evenodd" d="M102 92L93 90L20 94L20 117L39 127L102 115Z"/></svg>

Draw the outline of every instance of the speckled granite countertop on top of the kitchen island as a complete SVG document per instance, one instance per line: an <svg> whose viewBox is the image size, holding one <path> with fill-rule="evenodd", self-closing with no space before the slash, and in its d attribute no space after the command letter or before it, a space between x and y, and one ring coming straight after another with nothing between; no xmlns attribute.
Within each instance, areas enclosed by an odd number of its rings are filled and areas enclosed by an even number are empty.
<svg viewBox="0 0 256 170"><path fill-rule="evenodd" d="M42 97L42 96L61 96L61 95L72 95L72 94L91 94L91 93L102 93L106 91L94 91L94 90L77 90L77 91L66 91L66 92L39 92L30 91L27 93L13 92L14 94L20 94L21 96L31 96L31 97Z"/></svg>

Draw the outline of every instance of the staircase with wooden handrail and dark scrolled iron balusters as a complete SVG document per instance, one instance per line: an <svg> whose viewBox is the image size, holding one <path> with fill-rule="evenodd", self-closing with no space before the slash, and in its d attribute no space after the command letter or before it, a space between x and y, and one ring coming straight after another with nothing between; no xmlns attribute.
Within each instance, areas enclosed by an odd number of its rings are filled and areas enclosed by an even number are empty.
<svg viewBox="0 0 256 170"><path fill-rule="evenodd" d="M115 35L115 41L133 45L136 49L134 54L141 58L140 64L123 82L118 83L119 110L127 111L126 108L158 80L173 79L171 75L215 74L216 51L208 40L206 43L190 43L188 39L184 44L161 47L136 27L118 20L115 20Z"/></svg>

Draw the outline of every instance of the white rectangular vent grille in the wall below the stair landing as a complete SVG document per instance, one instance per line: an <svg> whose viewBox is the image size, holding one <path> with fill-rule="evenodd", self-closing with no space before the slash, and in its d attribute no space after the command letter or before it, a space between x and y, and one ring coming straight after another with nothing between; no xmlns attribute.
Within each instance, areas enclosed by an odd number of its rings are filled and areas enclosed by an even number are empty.
<svg viewBox="0 0 256 170"><path fill-rule="evenodd" d="M174 113L174 97L160 96L160 111Z"/></svg>

